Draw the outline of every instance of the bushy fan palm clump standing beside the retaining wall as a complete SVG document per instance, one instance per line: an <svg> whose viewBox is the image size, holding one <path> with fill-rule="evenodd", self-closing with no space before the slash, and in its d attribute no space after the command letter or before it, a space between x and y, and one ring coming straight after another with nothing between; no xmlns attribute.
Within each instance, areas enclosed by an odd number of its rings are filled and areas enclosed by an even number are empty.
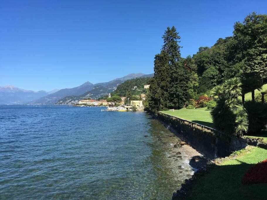
<svg viewBox="0 0 267 200"><path fill-rule="evenodd" d="M215 98L217 104L211 111L212 120L215 127L226 134L242 136L248 130L246 110L237 98L242 92L241 85L239 78L231 78L222 87L217 86L213 90L220 93L213 94L218 97Z"/></svg>

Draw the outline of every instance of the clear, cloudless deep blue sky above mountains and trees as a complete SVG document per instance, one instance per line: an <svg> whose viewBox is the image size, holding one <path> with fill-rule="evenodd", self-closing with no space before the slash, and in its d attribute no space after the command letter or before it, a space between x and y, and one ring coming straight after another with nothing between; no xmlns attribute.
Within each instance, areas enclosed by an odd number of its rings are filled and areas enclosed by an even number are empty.
<svg viewBox="0 0 267 200"><path fill-rule="evenodd" d="M0 0L0 86L52 90L152 73L167 26L186 57L252 11L266 14L267 1Z"/></svg>

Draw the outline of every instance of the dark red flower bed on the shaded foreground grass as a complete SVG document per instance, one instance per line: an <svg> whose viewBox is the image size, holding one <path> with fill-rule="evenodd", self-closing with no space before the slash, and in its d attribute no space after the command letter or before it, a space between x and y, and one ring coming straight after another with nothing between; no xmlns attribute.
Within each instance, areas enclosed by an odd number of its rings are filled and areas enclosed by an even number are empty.
<svg viewBox="0 0 267 200"><path fill-rule="evenodd" d="M267 159L251 167L244 175L242 183L267 183Z"/></svg>

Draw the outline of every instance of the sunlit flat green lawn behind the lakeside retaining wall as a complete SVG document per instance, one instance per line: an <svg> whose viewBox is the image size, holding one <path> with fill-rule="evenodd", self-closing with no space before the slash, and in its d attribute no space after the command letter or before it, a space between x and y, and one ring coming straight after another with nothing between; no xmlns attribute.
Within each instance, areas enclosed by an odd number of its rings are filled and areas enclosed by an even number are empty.
<svg viewBox="0 0 267 200"><path fill-rule="evenodd" d="M169 114L174 117L179 117L181 119L186 119L191 122L202 124L207 127L214 128L210 115L210 110L206 110L206 108L197 108L197 109L182 108L180 110L174 110L174 111L167 110L161 112Z"/></svg>

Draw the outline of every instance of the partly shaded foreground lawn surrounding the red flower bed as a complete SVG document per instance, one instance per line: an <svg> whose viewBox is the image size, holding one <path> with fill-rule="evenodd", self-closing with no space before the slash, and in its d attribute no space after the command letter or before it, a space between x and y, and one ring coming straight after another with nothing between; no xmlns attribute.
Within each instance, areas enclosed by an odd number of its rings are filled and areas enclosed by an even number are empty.
<svg viewBox="0 0 267 200"><path fill-rule="evenodd" d="M253 147L248 153L216 165L196 180L188 199L266 199L267 184L242 184L246 171L266 158L266 149Z"/></svg>

